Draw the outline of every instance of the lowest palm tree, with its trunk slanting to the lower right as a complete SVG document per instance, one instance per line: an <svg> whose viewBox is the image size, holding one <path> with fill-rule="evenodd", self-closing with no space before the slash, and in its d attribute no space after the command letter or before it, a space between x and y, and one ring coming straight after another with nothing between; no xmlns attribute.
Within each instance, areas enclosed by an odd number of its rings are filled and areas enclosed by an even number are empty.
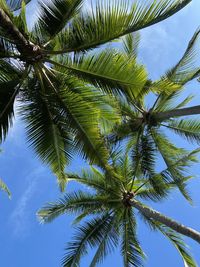
<svg viewBox="0 0 200 267"><path fill-rule="evenodd" d="M193 162L198 151L193 151L179 158L174 165L179 168ZM133 179L135 170L128 154L114 156L115 170L119 179L108 179L104 172L91 167L81 175L68 174L70 180L87 186L87 192L75 190L67 193L57 202L51 202L38 212L41 222L51 222L62 214L74 214L74 223L85 222L76 228L76 233L68 243L62 266L79 266L81 258L87 254L88 246L97 248L91 264L98 263L120 247L124 266L143 266L144 252L137 238L137 213L150 226L160 231L169 239L183 258L185 266L197 267L187 251L182 235L193 238L200 243L200 233L153 210L141 200L160 202L177 187L178 183L185 184L191 177L182 175L179 182L170 179L169 168L152 177L157 181L156 189L143 175ZM165 182L164 182L165 179ZM80 187L79 187L80 188Z"/></svg>

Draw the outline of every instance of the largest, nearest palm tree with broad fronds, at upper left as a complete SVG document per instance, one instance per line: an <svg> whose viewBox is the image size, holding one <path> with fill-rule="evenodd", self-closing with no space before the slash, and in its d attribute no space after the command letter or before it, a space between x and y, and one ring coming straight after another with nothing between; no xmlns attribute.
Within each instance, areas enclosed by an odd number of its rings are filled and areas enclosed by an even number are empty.
<svg viewBox="0 0 200 267"><path fill-rule="evenodd" d="M12 124L18 99L28 140L63 189L64 168L74 151L110 171L99 118L111 118L111 110L96 87L117 90L127 83L135 85L140 76L137 72L135 78L126 79L126 68L117 79L116 69L107 74L86 70L86 52L164 20L191 0L112 5L108 1L97 3L92 12L82 11L84 0L40 2L31 30L26 22L28 2L0 2L0 140ZM102 68L105 64L104 57Z"/></svg>

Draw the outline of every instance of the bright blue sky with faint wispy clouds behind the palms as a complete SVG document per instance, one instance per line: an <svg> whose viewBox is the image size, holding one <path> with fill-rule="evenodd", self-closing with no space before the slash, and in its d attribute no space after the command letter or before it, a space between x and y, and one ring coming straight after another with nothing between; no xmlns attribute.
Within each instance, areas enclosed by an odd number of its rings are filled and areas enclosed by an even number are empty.
<svg viewBox="0 0 200 267"><path fill-rule="evenodd" d="M200 1L193 0L177 15L141 31L140 59L147 65L152 78L158 78L181 57L194 31L200 26L199 10ZM29 10L28 18L31 20L32 13L33 10ZM184 95L191 92L196 95L193 104L198 104L200 84L192 82ZM186 141L174 141L188 149L192 148ZM0 266L58 267L65 243L70 240L72 234L71 217L63 216L51 224L41 225L35 215L44 203L60 196L56 179L28 147L24 125L18 117L2 148L0 176L12 191L12 200L8 200L3 193L0 194ZM82 161L76 159L70 169L78 172L82 166ZM189 186L194 206L186 203L178 193L172 194L162 204L152 206L200 230L199 164L191 172L197 175L197 179ZM68 190L72 188L73 184ZM147 267L183 266L178 253L168 241L160 234L150 232L142 222L139 225L139 236L148 255ZM200 266L199 246L189 239L186 240ZM83 260L81 267L89 265L89 257L90 254ZM118 253L109 256L102 264L104 267L111 265L122 266Z"/></svg>

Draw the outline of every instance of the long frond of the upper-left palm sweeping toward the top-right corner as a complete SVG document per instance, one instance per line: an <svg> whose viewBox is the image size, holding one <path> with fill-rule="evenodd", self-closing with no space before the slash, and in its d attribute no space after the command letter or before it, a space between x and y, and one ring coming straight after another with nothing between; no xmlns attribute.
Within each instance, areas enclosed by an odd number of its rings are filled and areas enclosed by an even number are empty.
<svg viewBox="0 0 200 267"><path fill-rule="evenodd" d="M83 12L58 35L55 46L60 51L78 52L98 47L123 35L158 23L191 0L110 1L97 2L92 12ZM51 52L49 52L51 53ZM53 53L53 52L52 52Z"/></svg>

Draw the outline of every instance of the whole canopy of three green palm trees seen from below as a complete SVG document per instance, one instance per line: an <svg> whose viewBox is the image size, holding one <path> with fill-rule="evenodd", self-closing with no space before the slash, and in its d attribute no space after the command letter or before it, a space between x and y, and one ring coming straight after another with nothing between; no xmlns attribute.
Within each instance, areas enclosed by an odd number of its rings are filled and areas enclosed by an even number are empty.
<svg viewBox="0 0 200 267"><path fill-rule="evenodd" d="M29 2L0 1L0 142L17 105L29 144L57 176L61 191L72 181L89 188L66 193L38 212L42 222L76 215L78 226L62 266L79 266L88 247L97 248L91 267L117 247L125 267L143 266L139 214L171 241L185 266L197 267L183 236L200 243L200 233L146 202L161 202L179 189L192 203L187 167L197 162L199 149L178 147L166 132L200 143L200 121L184 118L200 114L200 106L188 107L191 96L179 99L200 76L200 30L158 80L152 81L138 60L138 31L191 0L99 0L91 10L84 0L39 1L32 28L26 18ZM91 166L80 175L66 171L77 154ZM162 171L156 168L159 156ZM0 188L10 194L1 180Z"/></svg>

